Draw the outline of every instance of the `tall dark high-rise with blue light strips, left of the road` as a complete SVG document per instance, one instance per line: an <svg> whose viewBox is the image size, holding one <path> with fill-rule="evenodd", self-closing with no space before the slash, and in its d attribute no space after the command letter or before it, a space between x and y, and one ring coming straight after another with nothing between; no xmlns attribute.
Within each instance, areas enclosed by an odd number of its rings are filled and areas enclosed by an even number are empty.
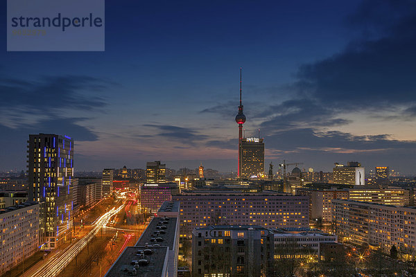
<svg viewBox="0 0 416 277"><path fill-rule="evenodd" d="M29 201L40 203L40 239L59 247L71 233L73 139L31 134L28 140Z"/></svg>

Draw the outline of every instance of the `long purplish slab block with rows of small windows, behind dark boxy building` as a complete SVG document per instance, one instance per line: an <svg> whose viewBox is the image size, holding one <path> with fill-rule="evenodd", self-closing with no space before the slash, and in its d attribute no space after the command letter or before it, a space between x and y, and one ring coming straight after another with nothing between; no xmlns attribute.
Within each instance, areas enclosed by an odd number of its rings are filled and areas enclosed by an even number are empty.
<svg viewBox="0 0 416 277"><path fill-rule="evenodd" d="M281 193L196 190L173 196L181 203L181 236L210 225L260 225L265 228L308 227L308 197Z"/></svg>

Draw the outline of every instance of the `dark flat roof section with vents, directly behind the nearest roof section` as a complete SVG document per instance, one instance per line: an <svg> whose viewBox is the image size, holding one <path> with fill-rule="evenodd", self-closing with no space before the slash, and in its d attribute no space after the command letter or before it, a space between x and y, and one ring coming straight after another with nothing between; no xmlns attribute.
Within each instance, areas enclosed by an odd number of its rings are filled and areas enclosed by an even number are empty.
<svg viewBox="0 0 416 277"><path fill-rule="evenodd" d="M141 234L136 246L158 244L159 247L173 249L175 242L176 217L154 217L144 233Z"/></svg>

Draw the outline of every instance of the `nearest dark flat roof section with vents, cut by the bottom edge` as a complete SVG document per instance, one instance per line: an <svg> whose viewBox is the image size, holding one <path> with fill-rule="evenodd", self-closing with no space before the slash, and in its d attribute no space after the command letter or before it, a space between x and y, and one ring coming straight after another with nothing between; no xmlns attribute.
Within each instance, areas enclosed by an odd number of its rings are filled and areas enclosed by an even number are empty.
<svg viewBox="0 0 416 277"><path fill-rule="evenodd" d="M164 276L167 270L167 251L167 247L127 247L105 276Z"/></svg>

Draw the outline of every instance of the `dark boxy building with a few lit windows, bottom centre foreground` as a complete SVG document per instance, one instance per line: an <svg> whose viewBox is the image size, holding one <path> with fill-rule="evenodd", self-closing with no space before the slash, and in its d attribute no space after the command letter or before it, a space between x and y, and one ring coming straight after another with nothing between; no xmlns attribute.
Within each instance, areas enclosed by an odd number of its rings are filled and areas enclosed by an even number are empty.
<svg viewBox="0 0 416 277"><path fill-rule="evenodd" d="M273 276L273 233L258 225L193 230L192 276Z"/></svg>

